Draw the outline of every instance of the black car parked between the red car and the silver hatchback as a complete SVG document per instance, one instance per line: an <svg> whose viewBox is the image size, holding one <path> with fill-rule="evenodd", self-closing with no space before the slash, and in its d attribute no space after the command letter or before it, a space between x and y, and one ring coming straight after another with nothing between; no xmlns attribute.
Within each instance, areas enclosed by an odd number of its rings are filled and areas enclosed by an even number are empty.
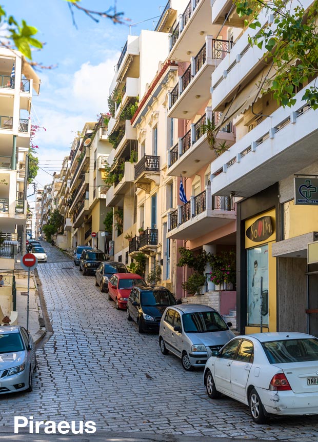
<svg viewBox="0 0 318 442"><path fill-rule="evenodd" d="M137 323L139 333L158 331L164 311L176 304L165 287L134 287L127 302L127 319Z"/></svg>

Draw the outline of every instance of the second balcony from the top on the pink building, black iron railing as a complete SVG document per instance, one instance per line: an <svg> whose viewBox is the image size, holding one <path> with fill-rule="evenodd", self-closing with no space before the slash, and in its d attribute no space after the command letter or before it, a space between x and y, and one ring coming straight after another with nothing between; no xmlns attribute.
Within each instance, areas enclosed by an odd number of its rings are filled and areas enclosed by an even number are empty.
<svg viewBox="0 0 318 442"><path fill-rule="evenodd" d="M211 98L211 75L214 69L232 49L233 42L206 36L204 46L191 58L191 64L179 77L178 88L169 99L168 116L193 119ZM173 94L173 96L172 96Z"/></svg>

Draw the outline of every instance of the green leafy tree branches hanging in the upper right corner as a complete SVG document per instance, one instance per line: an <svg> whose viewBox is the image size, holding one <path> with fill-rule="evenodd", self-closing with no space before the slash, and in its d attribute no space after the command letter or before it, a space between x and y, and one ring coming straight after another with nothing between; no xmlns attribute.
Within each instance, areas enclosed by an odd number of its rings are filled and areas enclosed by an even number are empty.
<svg viewBox="0 0 318 442"><path fill-rule="evenodd" d="M249 36L249 43L267 50L265 61L275 69L269 83L273 97L280 105L291 107L297 89L318 75L318 0L307 10L299 2L292 7L282 0L235 0L235 6L237 14L245 17L245 25L259 28L256 35ZM262 26L260 13L264 8L272 19ZM302 99L318 108L317 87L308 87Z"/></svg>

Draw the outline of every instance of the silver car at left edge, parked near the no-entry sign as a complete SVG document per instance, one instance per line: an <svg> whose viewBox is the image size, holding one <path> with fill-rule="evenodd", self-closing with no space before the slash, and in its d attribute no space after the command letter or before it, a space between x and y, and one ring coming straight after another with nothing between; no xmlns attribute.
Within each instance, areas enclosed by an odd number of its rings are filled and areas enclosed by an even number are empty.
<svg viewBox="0 0 318 442"><path fill-rule="evenodd" d="M32 391L36 367L32 336L21 326L0 327L0 394Z"/></svg>

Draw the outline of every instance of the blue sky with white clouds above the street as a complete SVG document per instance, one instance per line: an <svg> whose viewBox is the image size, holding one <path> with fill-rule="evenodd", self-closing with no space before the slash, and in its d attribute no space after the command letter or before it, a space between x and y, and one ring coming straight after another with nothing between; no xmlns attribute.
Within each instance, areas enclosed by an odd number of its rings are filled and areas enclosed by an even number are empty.
<svg viewBox="0 0 318 442"><path fill-rule="evenodd" d="M114 1L114 0L112 0ZM105 11L113 3L108 0L82 0L82 6ZM96 119L107 111L107 96L114 74L114 65L129 33L129 24L161 14L166 0L117 0L117 11L131 21L113 25L108 19L94 23L83 12L74 10L78 30L72 25L68 4L64 0L6 0L3 6L19 22L25 19L35 26L38 39L46 45L33 52L33 59L53 70L41 70L41 91L33 96L32 120L44 126L36 138L39 187L51 182L53 171L59 171L72 140L85 121ZM153 30L158 18L131 27L138 35L141 29Z"/></svg>

